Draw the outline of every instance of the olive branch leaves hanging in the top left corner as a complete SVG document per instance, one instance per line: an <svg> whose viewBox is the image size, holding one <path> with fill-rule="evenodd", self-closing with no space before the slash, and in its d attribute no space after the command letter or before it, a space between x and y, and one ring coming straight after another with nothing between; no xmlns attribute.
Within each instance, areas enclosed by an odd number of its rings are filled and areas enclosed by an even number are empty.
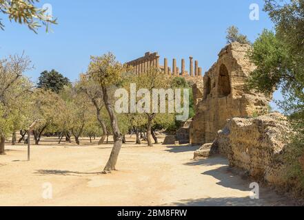
<svg viewBox="0 0 304 220"><path fill-rule="evenodd" d="M56 24L57 19L52 19L52 17L46 15L46 10L37 8L35 3L38 2L39 0L0 0L0 12L8 15L10 21L27 25L35 33L41 27L41 24L45 26L48 32L49 25L51 23ZM1 21L0 28L4 29Z"/></svg>

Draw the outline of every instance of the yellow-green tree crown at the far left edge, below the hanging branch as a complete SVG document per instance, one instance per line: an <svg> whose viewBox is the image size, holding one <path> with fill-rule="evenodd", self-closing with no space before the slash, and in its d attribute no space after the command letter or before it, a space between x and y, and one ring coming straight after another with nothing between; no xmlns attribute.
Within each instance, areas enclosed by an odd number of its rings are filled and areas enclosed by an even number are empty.
<svg viewBox="0 0 304 220"><path fill-rule="evenodd" d="M0 135L28 126L32 83L23 73L32 69L26 56L10 56L0 61Z"/></svg>

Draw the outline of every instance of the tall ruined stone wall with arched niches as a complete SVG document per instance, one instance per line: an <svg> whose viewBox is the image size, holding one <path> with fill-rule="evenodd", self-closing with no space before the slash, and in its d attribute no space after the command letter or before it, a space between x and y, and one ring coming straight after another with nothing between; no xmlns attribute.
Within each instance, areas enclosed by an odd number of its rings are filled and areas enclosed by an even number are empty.
<svg viewBox="0 0 304 220"><path fill-rule="evenodd" d="M248 91L245 80L254 65L246 58L250 45L232 43L219 53L219 60L203 78L203 99L190 127L192 144L213 142L230 118L265 113L270 97Z"/></svg>

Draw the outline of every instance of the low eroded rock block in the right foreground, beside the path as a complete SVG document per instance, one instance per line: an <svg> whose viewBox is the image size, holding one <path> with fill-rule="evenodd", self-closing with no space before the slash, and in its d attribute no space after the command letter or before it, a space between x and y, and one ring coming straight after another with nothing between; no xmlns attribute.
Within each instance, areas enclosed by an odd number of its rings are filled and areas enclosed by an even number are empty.
<svg viewBox="0 0 304 220"><path fill-rule="evenodd" d="M211 148L226 156L230 166L246 170L254 179L280 184L285 170L282 155L290 131L290 125L280 113L233 118L219 131Z"/></svg>

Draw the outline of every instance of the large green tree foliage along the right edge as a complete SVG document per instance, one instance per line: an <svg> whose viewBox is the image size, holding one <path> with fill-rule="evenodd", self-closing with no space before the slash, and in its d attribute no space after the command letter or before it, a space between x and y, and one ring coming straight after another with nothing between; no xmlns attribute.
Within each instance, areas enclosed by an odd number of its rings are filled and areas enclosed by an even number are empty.
<svg viewBox="0 0 304 220"><path fill-rule="evenodd" d="M301 183L304 190L304 170L299 157L304 153L304 1L265 0L265 11L274 22L276 32L264 30L249 52L257 66L248 85L271 94L281 89L283 101L278 106L290 119L294 133L285 154L291 181Z"/></svg>

